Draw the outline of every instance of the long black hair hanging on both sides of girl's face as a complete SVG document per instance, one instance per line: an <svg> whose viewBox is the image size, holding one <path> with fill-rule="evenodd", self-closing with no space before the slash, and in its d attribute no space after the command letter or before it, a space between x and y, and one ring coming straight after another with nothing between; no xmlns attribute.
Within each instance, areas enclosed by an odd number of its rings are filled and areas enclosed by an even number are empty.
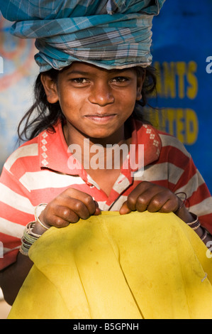
<svg viewBox="0 0 212 334"><path fill-rule="evenodd" d="M145 69L135 67L135 71L138 76L143 77L145 75L145 80L142 88L142 99L136 102L132 116L145 122L142 107L147 104L147 97L156 91L155 69L150 66ZM59 71L53 68L43 72L44 75L50 76L54 82L57 82L58 73ZM18 124L19 142L33 139L45 129L55 131L54 125L57 121L60 120L63 124L65 122L65 116L62 114L59 102L54 104L48 102L40 76L41 74L38 75L34 85L35 102Z"/></svg>

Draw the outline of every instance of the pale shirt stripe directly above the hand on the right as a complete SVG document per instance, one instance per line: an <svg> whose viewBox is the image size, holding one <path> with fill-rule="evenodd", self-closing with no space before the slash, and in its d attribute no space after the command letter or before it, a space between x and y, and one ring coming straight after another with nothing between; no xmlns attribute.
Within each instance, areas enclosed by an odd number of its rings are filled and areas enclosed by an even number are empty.
<svg viewBox="0 0 212 334"><path fill-rule="evenodd" d="M134 179L140 181L161 181L168 180L176 184L181 178L184 170L175 166L173 163L158 163L145 167L144 173L140 176L140 171L134 173Z"/></svg>

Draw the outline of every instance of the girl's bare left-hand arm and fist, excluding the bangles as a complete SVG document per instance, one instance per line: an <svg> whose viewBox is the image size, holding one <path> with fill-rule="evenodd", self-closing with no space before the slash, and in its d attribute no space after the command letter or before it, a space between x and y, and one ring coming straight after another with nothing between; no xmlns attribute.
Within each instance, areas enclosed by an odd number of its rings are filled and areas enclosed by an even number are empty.
<svg viewBox="0 0 212 334"><path fill-rule="evenodd" d="M93 198L82 191L68 188L52 200L40 213L40 221L47 227L65 227L79 218L87 219L90 215L98 215L100 210ZM33 232L42 235L45 232L39 222L35 222ZM0 286L4 298L13 304L23 281L33 266L33 262L25 255L18 253L15 263L0 272Z"/></svg>

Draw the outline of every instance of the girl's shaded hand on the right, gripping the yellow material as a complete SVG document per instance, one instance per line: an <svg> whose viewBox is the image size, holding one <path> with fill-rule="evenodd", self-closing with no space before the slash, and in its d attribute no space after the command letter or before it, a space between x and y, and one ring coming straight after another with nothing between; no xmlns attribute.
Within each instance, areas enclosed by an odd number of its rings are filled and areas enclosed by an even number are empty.
<svg viewBox="0 0 212 334"><path fill-rule="evenodd" d="M131 211L177 212L182 200L171 190L154 183L143 181L128 195L128 200L119 210L121 215Z"/></svg>

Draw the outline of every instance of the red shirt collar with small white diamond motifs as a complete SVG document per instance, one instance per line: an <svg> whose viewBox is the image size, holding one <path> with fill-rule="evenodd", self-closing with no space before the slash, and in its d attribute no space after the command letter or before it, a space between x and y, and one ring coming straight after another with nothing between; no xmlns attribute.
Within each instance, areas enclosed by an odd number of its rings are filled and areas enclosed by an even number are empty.
<svg viewBox="0 0 212 334"><path fill-rule="evenodd" d="M138 120L132 119L131 126L133 129L131 144L135 145L135 157L138 157L138 144L143 144L144 166L147 166L153 161L156 161L160 156L160 136L157 134L157 130L151 125L143 124ZM46 130L38 135L38 154L40 158L40 168L48 168L68 175L79 175L84 180L87 180L87 172L84 171L84 168L81 168L79 163L78 168L69 168L72 154L69 153L61 122L58 122L55 125L55 132ZM135 161L136 158L134 159ZM124 166L125 165L123 164L123 167ZM136 171L137 169L138 167L136 166L136 163L130 163L130 169L123 168L121 173L130 178L130 172Z"/></svg>

